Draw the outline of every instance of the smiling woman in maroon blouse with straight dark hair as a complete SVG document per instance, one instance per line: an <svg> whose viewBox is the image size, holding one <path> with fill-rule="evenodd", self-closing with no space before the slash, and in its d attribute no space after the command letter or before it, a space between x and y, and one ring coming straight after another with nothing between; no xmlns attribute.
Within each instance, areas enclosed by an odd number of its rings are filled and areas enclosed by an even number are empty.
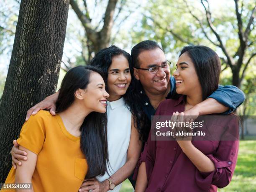
<svg viewBox="0 0 256 192"><path fill-rule="evenodd" d="M184 47L174 72L176 91L184 96L168 99L155 115L183 115L218 88L220 59L205 46ZM238 131L237 118L214 122ZM235 131L235 132L236 132ZM234 139L235 140L235 139ZM136 192L215 192L230 183L239 141L151 141L145 143L138 163ZM135 171L136 173L136 171ZM136 175L135 175L136 177Z"/></svg>

